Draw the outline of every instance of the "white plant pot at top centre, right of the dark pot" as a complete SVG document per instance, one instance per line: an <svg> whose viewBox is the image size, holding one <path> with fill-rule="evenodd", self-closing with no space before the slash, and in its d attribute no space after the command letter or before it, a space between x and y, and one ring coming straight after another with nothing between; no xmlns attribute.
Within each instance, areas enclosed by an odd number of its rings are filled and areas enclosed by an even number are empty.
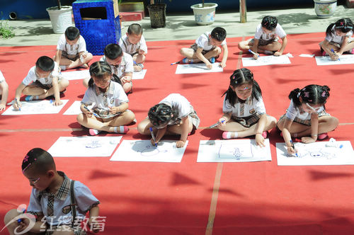
<svg viewBox="0 0 354 235"><path fill-rule="evenodd" d="M217 8L217 4L195 4L190 6L193 9L195 22L198 25L211 25L215 21L215 8Z"/></svg>

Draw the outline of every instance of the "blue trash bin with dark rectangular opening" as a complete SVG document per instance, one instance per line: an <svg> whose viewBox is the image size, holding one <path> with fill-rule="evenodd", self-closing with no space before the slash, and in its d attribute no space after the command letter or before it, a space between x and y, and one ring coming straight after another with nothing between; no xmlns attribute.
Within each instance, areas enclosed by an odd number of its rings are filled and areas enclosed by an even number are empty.
<svg viewBox="0 0 354 235"><path fill-rule="evenodd" d="M76 28L92 55L103 55L105 46L120 40L117 0L78 0L72 4Z"/></svg>

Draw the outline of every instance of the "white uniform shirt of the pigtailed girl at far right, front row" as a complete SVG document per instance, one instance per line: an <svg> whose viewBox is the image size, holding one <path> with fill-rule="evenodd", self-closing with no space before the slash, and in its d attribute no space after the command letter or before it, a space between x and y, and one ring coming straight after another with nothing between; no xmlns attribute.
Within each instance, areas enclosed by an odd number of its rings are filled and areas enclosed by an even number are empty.
<svg viewBox="0 0 354 235"><path fill-rule="evenodd" d="M321 116L330 116L329 113L326 113L326 110L324 110L324 106L319 107L319 110L316 111L319 117ZM311 114L307 113L304 111L301 106L295 107L294 103L292 100L290 101L289 108L287 108L287 112L285 115L282 115L279 118L279 121L287 117L288 119L298 122L303 125L308 125L311 126Z"/></svg>

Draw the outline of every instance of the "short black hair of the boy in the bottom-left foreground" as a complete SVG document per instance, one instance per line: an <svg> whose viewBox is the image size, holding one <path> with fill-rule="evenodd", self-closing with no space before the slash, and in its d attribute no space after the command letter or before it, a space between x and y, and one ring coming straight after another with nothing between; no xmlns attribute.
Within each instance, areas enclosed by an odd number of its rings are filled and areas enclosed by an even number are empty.
<svg viewBox="0 0 354 235"><path fill-rule="evenodd" d="M52 155L40 148L30 149L25 155L21 166L22 171L26 171L29 167L40 174L47 173L50 170L56 171Z"/></svg>

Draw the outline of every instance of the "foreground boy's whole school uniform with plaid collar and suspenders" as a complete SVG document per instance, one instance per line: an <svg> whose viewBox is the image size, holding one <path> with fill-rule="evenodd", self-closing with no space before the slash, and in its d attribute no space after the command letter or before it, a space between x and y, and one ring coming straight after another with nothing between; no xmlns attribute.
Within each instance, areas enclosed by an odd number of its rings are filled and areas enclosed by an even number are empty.
<svg viewBox="0 0 354 235"><path fill-rule="evenodd" d="M28 213L37 216L44 215L47 223L47 233L52 234L56 227L61 225L71 226L77 224L80 219L84 219L86 212L100 202L92 195L91 190L79 181L74 182L74 197L76 202L76 219L73 221L72 198L70 192L69 179L64 172L58 171L59 176L64 178L62 185L55 194L47 193L46 190L33 188L30 194ZM53 198L54 196L54 198ZM52 214L52 215L50 215ZM79 224L78 224L79 225ZM43 230L45 227L43 227ZM74 234L80 234L80 228L74 228ZM82 234L82 231L81 231Z"/></svg>

